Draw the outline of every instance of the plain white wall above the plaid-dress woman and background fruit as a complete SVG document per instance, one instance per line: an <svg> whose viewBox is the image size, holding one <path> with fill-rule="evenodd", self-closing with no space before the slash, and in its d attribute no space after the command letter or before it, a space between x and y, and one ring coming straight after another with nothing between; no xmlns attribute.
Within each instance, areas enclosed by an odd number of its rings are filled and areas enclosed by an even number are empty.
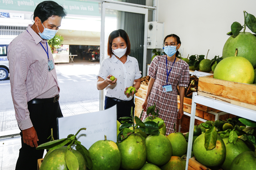
<svg viewBox="0 0 256 170"><path fill-rule="evenodd" d="M231 24L244 25L243 11L256 16L255 7L256 0L158 0L157 22L165 22L165 36L180 37L182 57L206 55L210 49L208 59L212 59L222 56Z"/></svg>

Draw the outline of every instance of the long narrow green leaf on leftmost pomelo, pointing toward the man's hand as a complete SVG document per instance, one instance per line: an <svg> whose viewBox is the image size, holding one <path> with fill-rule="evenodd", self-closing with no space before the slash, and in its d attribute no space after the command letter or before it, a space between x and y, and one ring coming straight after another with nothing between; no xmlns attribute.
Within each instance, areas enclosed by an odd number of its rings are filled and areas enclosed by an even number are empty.
<svg viewBox="0 0 256 170"><path fill-rule="evenodd" d="M39 145L37 149L57 149L66 145L68 142L70 142L70 140L67 138L53 140Z"/></svg>

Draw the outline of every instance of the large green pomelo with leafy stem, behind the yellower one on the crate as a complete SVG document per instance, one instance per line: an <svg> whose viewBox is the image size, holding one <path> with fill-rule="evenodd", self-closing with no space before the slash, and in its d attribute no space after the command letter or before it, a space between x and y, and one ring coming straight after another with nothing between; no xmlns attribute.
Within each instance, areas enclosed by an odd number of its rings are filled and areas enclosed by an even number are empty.
<svg viewBox="0 0 256 170"><path fill-rule="evenodd" d="M238 36L230 36L227 39L223 51L222 57L227 58L234 55L236 48L238 49L238 55L246 58L250 61L253 67L256 67L256 37L248 32L240 32Z"/></svg>

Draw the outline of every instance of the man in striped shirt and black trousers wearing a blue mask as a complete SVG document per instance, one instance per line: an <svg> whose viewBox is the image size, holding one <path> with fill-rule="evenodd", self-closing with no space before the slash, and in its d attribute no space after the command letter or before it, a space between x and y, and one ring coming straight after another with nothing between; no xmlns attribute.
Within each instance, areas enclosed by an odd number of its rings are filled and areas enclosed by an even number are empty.
<svg viewBox="0 0 256 170"><path fill-rule="evenodd" d="M11 94L15 116L21 130L21 149L16 170L36 170L44 150L36 147L48 142L53 128L57 139L59 85L47 40L61 26L66 12L54 1L39 3L34 11L33 25L8 46Z"/></svg>

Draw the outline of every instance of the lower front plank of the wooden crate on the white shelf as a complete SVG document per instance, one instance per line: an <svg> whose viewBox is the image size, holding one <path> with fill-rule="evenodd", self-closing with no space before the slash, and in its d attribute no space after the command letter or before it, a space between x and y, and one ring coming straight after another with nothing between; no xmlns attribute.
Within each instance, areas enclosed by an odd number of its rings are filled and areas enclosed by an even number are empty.
<svg viewBox="0 0 256 170"><path fill-rule="evenodd" d="M200 91L198 91L197 94L202 95L204 97L212 98L212 99L215 99L215 100L224 101L226 103L235 104L236 106L245 107L247 109L256 110L256 106L254 106L253 104L247 104L247 103L243 103L241 101L236 101L236 100L232 100L232 99L229 99L229 98L224 98L224 97L221 97L221 96L208 94L208 93L200 92Z"/></svg>

